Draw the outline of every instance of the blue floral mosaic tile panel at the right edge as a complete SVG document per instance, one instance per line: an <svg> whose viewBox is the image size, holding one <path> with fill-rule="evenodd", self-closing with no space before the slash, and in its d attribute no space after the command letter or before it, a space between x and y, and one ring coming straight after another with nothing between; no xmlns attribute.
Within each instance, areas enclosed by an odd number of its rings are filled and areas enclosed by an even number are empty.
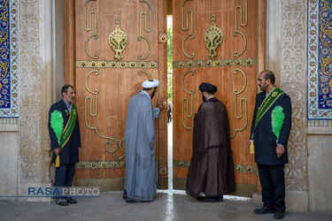
<svg viewBox="0 0 332 221"><path fill-rule="evenodd" d="M308 120L332 119L332 0L308 2Z"/></svg>

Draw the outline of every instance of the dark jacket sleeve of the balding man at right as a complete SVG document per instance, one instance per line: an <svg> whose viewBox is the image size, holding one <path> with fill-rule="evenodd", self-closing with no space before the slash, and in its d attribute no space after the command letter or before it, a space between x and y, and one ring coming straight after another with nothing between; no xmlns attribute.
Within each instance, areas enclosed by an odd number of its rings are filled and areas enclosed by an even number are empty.
<svg viewBox="0 0 332 221"><path fill-rule="evenodd" d="M283 120L282 130L279 135L278 143L283 146L287 146L287 142L290 137L290 128L291 128L291 103L290 96L284 95L282 97L282 101L280 103L283 109L283 113L285 114L285 118Z"/></svg>

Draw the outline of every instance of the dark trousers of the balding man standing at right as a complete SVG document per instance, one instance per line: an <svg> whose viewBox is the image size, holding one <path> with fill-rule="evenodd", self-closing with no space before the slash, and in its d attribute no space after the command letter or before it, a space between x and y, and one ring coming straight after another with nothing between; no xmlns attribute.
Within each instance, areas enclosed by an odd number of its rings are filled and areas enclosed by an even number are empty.
<svg viewBox="0 0 332 221"><path fill-rule="evenodd" d="M258 164L259 180L262 186L262 201L265 207L286 210L285 165Z"/></svg>

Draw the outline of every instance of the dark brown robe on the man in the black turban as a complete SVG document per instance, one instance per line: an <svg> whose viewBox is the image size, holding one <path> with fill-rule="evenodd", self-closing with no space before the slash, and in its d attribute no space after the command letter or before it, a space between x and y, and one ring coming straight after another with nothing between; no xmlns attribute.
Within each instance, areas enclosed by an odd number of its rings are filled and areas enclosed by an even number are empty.
<svg viewBox="0 0 332 221"><path fill-rule="evenodd" d="M235 192L228 112L215 97L202 103L195 114L186 192L193 197Z"/></svg>

